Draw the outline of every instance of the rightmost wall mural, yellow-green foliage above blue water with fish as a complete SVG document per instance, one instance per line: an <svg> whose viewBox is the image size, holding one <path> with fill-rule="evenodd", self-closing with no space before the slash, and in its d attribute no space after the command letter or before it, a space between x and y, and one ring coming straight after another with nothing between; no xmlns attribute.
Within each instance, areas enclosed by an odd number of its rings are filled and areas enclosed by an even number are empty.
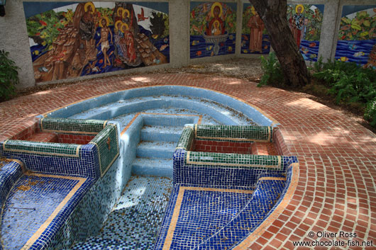
<svg viewBox="0 0 376 250"><path fill-rule="evenodd" d="M376 5L343 6L335 58L376 69Z"/></svg>

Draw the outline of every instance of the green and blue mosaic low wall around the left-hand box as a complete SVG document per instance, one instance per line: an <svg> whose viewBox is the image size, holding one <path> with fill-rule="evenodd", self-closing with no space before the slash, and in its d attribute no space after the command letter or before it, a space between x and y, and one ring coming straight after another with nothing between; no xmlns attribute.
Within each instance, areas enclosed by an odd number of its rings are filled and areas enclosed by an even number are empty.
<svg viewBox="0 0 376 250"><path fill-rule="evenodd" d="M118 131L106 121L44 118L40 130L95 137L83 145L6 140L1 142L0 153L20 159L31 171L92 178L103 176L118 157Z"/></svg>

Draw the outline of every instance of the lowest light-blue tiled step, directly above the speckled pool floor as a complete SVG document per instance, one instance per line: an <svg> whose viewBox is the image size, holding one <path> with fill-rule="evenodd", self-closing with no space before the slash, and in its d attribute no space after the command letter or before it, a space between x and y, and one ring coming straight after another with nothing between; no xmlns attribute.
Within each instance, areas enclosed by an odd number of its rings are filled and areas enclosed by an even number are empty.
<svg viewBox="0 0 376 250"><path fill-rule="evenodd" d="M132 173L147 176L172 177L172 159L136 158Z"/></svg>

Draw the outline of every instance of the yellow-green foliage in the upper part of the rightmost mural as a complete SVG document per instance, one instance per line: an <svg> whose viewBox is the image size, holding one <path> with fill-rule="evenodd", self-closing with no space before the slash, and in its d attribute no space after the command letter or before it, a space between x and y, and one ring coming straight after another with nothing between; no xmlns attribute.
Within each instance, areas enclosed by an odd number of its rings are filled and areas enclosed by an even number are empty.
<svg viewBox="0 0 376 250"><path fill-rule="evenodd" d="M374 15L367 11L359 11L353 19L343 16L341 18L338 39L340 40L369 40L376 38L376 8Z"/></svg>

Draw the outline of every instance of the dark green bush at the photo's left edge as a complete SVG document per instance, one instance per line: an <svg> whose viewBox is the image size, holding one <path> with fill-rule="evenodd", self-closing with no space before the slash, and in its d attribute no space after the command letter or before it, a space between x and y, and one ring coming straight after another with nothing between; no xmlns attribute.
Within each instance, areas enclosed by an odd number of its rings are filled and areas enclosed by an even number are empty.
<svg viewBox="0 0 376 250"><path fill-rule="evenodd" d="M9 52L0 50L0 100L8 100L16 90L18 84L18 70L16 64L9 59Z"/></svg>

